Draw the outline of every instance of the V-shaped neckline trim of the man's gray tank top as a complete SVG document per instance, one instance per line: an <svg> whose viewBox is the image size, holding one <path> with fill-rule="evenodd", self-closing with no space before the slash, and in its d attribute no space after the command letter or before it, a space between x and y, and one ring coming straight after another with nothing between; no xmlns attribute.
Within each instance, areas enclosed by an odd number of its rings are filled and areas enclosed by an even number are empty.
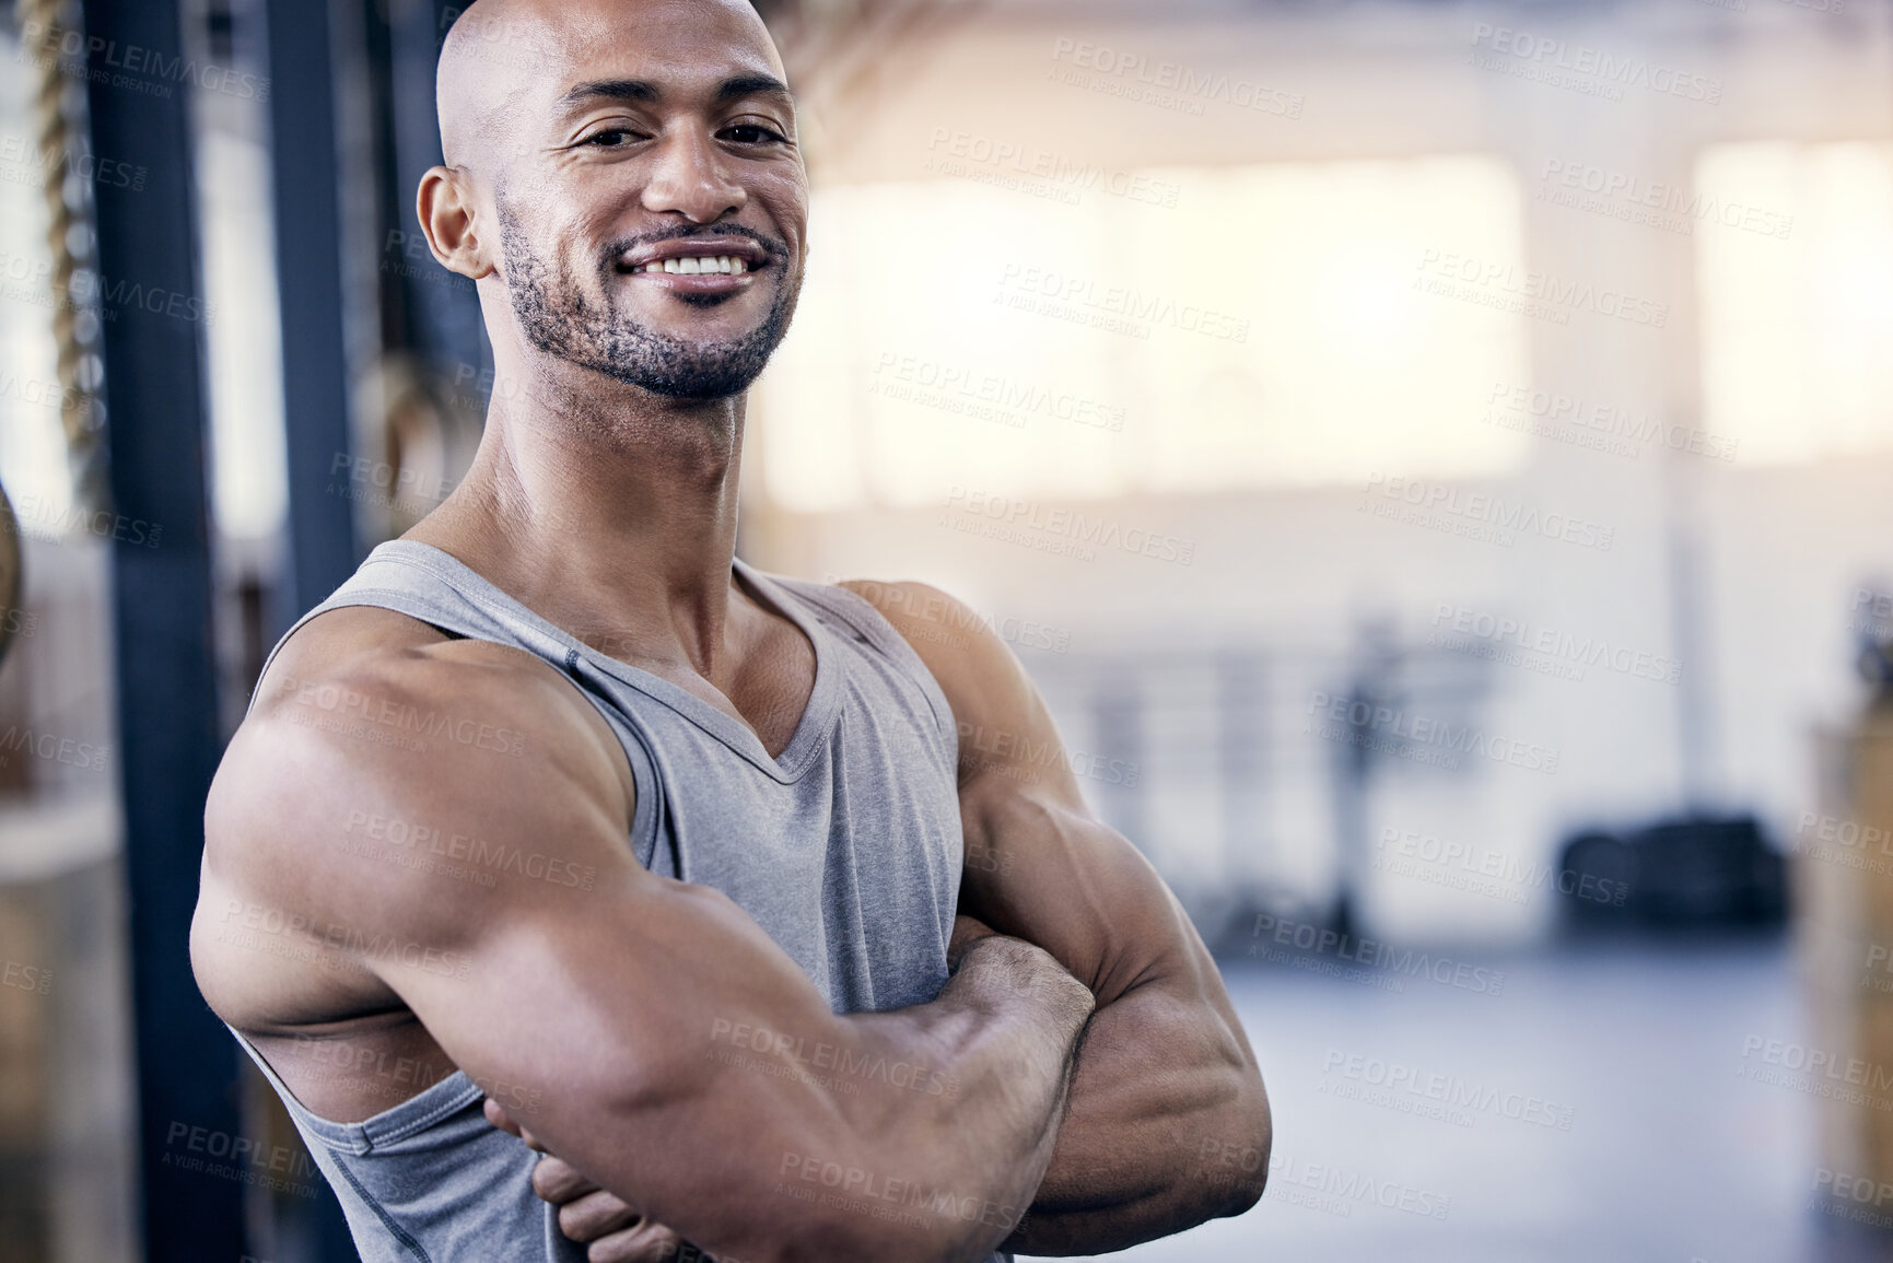
<svg viewBox="0 0 1893 1263"><path fill-rule="evenodd" d="M613 680L638 689L651 701L663 703L670 710L678 712L776 780L791 782L808 771L814 763L814 756L825 746L827 735L833 731L835 720L840 714L837 704L840 693L837 672L840 670L840 665L835 661L831 638L822 634L816 619L803 610L801 602L786 593L780 583L755 570L740 557L731 557L731 572L748 587L753 598L759 598L759 604L765 604L782 617L789 619L789 623L793 623L797 631L808 638L816 655L816 682L808 691L808 704L803 708L803 718L789 735L789 744L786 744L782 754L774 757L770 757L763 738L757 737L755 729L748 723L655 672L632 667L630 663L619 661L608 653L600 653L568 632L564 627L558 627L538 610L502 589L487 576L468 566L447 549L422 543L420 540L388 540L386 543L377 545L369 555L369 560L375 559L399 560L430 570L447 579L447 583L469 600L485 606L488 614L534 627L540 634L564 646L568 668L574 661L589 663L594 670L611 676Z"/></svg>

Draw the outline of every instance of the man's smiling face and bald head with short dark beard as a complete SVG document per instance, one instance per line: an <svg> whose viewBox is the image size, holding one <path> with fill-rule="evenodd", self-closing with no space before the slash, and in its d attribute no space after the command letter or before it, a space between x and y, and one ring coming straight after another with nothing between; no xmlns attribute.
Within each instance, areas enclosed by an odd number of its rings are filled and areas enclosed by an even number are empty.
<svg viewBox="0 0 1893 1263"><path fill-rule="evenodd" d="M443 49L441 133L490 195L498 250L475 250L530 347L672 398L763 371L801 292L808 178L748 4L481 0Z"/></svg>

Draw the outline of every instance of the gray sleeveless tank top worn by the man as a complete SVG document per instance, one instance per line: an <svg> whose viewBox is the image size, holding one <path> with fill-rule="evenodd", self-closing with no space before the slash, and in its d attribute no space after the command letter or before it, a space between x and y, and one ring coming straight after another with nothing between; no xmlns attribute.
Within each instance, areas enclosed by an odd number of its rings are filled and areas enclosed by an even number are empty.
<svg viewBox="0 0 1893 1263"><path fill-rule="evenodd" d="M380 606L540 655L591 699L630 759L638 863L734 899L837 1013L926 1004L946 981L962 865L946 697L854 593L742 560L734 572L816 649L808 710L778 757L716 706L591 649L411 540L369 553L282 640L326 610ZM367 1121L335 1123L305 1110L257 1049L237 1040L341 1199L363 1263L583 1263L532 1193L536 1155L487 1123L466 1074Z"/></svg>

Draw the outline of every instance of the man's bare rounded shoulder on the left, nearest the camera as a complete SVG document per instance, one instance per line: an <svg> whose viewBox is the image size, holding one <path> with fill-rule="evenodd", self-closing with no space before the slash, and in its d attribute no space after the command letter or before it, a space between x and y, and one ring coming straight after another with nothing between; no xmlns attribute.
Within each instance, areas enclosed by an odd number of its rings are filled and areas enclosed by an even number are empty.
<svg viewBox="0 0 1893 1263"><path fill-rule="evenodd" d="M384 1000L362 945L460 951L613 862L634 793L613 759L610 727L532 653L382 610L310 619L210 786L199 987L239 1026Z"/></svg>

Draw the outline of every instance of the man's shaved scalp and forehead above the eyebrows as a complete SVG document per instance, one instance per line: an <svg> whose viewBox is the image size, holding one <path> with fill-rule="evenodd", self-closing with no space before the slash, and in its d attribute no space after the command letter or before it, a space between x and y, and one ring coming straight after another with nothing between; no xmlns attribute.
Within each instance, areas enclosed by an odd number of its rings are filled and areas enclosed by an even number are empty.
<svg viewBox="0 0 1893 1263"><path fill-rule="evenodd" d="M681 70L674 32L721 45L787 81L776 44L748 0L475 0L441 45L435 108L449 167L496 176L540 148L534 125L574 89L610 81L625 55Z"/></svg>

